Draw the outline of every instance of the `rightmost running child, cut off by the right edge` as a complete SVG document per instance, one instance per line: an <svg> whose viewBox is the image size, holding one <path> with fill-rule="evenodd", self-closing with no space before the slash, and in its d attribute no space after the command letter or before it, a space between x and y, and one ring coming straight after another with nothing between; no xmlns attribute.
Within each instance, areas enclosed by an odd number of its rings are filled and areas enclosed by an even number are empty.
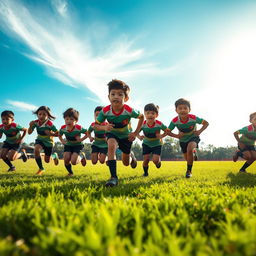
<svg viewBox="0 0 256 256"><path fill-rule="evenodd" d="M246 160L239 172L246 172L246 168L256 160L256 112L250 114L250 123L251 125L234 132L238 151L233 156L233 161L236 162L239 156Z"/></svg>

